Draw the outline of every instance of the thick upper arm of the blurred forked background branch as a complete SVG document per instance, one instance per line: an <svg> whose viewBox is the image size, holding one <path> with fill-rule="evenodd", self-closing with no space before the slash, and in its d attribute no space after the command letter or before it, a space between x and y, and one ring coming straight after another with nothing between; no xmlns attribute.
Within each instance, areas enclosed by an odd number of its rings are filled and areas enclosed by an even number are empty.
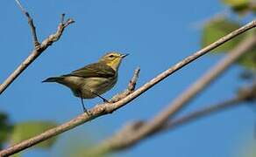
<svg viewBox="0 0 256 157"><path fill-rule="evenodd" d="M181 109L188 104L188 101L194 99L199 92L202 92L204 88L210 85L213 80L221 75L231 64L245 54L245 52L255 46L255 44L256 38L253 36L245 38L245 40L238 44L233 51L230 51L224 59L217 63L217 65L214 65L213 68L206 72L202 78L199 78L196 83L191 85L187 91L183 92L177 99L174 99L173 103L168 105L153 119L146 122L146 125L142 126L136 133L132 134L129 142L135 144L166 124L169 119L174 117L176 113L179 113Z"/></svg>

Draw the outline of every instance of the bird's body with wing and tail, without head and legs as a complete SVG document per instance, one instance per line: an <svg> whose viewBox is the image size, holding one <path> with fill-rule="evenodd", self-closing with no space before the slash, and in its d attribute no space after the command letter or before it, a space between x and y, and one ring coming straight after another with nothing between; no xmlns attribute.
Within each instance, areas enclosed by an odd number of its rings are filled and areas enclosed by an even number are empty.
<svg viewBox="0 0 256 157"><path fill-rule="evenodd" d="M103 63L94 63L60 77L47 78L44 82L66 85L76 97L92 99L116 85L117 72Z"/></svg>

